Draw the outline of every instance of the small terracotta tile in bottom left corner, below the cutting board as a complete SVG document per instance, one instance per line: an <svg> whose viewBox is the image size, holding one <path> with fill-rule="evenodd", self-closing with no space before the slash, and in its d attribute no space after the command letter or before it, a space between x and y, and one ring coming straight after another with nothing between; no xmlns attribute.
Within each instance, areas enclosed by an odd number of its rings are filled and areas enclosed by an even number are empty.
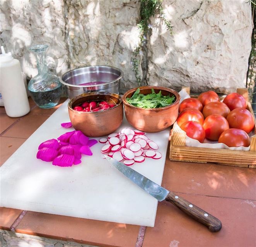
<svg viewBox="0 0 256 247"><path fill-rule="evenodd" d="M14 221L19 217L22 210L13 208L0 208L0 228L10 230Z"/></svg>

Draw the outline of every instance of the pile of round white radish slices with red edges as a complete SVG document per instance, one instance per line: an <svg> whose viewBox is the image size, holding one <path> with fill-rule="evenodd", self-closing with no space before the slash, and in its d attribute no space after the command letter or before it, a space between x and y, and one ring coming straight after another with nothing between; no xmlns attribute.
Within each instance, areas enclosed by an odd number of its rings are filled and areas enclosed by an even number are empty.
<svg viewBox="0 0 256 247"><path fill-rule="evenodd" d="M108 137L99 139L104 144L101 153L117 161L123 161L126 166L135 162L142 163L145 158L160 159L162 154L157 152L158 145L148 139L144 132L122 129L119 133L112 133Z"/></svg>

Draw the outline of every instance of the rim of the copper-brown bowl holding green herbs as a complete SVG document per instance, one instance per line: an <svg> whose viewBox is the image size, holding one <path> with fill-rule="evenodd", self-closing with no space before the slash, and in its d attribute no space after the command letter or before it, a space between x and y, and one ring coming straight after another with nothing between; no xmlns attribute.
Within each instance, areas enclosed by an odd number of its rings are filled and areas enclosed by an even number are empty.
<svg viewBox="0 0 256 247"><path fill-rule="evenodd" d="M176 97L176 100L174 101L174 103L172 103L171 105L167 105L166 107L160 107L160 108L140 108L140 107L135 107L133 105L130 105L127 101L126 101L126 97L129 93L131 92L135 92L138 88L141 89L159 89L159 90L165 90L165 91L169 91L171 93L174 94L174 96ZM179 101L181 100L181 96L179 95L179 93L171 88L166 88L163 86L138 86L137 88L132 88L130 90L128 90L124 95L123 95L123 104L127 107L133 108L133 109L140 109L140 110L145 110L145 111L151 111L151 112L155 112L156 110L166 110L168 108L171 108L177 104L179 104Z"/></svg>

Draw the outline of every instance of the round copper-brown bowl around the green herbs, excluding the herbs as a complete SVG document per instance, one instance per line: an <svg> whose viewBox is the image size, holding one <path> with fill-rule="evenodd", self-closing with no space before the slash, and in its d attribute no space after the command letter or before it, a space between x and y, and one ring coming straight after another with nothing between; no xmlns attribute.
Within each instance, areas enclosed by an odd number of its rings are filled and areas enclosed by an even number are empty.
<svg viewBox="0 0 256 247"><path fill-rule="evenodd" d="M167 107L155 109L134 107L126 101L126 98L130 98L137 90L137 88L133 88L123 95L123 104L125 106L125 116L133 127L144 132L154 133L166 129L176 121L181 97L176 91L161 86L141 86L140 93L144 95L152 93L152 88L155 90L155 93L159 93L161 90L164 96L174 95L176 97L175 102Z"/></svg>

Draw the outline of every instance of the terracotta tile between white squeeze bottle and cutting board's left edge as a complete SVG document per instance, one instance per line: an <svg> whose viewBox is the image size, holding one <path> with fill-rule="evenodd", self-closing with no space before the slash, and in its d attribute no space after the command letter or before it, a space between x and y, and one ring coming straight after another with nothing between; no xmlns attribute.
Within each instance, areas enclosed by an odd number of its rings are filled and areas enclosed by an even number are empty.
<svg viewBox="0 0 256 247"><path fill-rule="evenodd" d="M30 112L20 118L20 120L2 136L28 138L48 117L48 115L34 115Z"/></svg>

